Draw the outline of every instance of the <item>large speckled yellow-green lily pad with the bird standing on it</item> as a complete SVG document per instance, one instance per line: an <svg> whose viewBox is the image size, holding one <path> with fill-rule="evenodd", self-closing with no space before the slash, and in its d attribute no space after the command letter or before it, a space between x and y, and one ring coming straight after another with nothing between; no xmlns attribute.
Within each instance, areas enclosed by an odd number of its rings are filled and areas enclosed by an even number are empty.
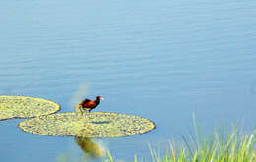
<svg viewBox="0 0 256 162"><path fill-rule="evenodd" d="M156 126L148 119L127 114L72 112L32 118L21 122L19 127L37 135L119 137L143 134Z"/></svg>

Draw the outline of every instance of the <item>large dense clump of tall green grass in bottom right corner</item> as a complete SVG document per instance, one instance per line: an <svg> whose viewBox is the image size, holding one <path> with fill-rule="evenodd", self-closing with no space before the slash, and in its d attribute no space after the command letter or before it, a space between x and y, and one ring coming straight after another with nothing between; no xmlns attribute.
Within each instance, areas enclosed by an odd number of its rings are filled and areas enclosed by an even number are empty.
<svg viewBox="0 0 256 162"><path fill-rule="evenodd" d="M153 162L255 162L255 131L242 135L233 131L228 135L217 132L210 138L182 137L185 146L173 148L169 142L169 150L160 157L156 150L150 148Z"/></svg>

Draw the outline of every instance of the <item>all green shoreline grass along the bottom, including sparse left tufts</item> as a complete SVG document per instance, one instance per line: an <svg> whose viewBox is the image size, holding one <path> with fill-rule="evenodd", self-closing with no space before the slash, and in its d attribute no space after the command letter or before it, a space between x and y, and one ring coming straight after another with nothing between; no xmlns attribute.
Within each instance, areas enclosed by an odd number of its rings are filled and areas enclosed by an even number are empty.
<svg viewBox="0 0 256 162"><path fill-rule="evenodd" d="M152 162L255 162L256 161L256 130L250 133L242 133L239 127L233 127L227 132L221 127L215 130L212 135L198 133L198 127L194 120L194 133L188 136L181 135L182 143L175 145L175 141L168 142L166 153L162 156L160 151L150 146ZM148 162L140 154L134 155L134 162ZM65 157L58 162L69 162ZM70 159L70 158L69 158ZM101 160L100 160L101 159ZM83 158L79 162L94 161ZM74 159L72 160L74 161ZM76 160L75 160L76 161ZM106 150L103 158L96 161L118 162L114 155ZM122 160L123 161L123 160Z"/></svg>

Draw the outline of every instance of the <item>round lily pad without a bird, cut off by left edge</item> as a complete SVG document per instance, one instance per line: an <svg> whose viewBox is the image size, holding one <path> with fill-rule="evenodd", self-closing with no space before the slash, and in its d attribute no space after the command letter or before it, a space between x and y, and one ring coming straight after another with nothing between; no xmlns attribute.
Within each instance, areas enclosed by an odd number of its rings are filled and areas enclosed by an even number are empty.
<svg viewBox="0 0 256 162"><path fill-rule="evenodd" d="M25 96L0 96L0 120L31 118L60 110L60 105L46 99Z"/></svg>

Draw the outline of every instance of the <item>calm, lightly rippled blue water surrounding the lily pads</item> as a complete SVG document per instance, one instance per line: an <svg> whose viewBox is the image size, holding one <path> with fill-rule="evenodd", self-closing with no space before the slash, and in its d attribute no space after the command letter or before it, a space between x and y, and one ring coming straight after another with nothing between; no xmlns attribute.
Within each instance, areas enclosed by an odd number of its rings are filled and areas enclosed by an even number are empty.
<svg viewBox="0 0 256 162"><path fill-rule="evenodd" d="M144 135L99 139L118 160L150 155L192 130L222 122L256 125L256 2L0 2L0 94L51 99L72 111L79 91L103 101L95 111L156 122ZM79 87L86 85L89 90ZM41 136L0 122L0 161L81 156L71 137Z"/></svg>

